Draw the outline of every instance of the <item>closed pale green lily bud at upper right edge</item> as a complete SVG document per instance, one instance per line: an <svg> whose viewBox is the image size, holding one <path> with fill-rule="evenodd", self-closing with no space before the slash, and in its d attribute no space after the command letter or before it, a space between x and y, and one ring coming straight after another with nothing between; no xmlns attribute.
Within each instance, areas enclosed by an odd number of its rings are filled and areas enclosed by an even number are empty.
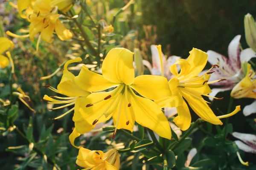
<svg viewBox="0 0 256 170"><path fill-rule="evenodd" d="M256 24L251 14L244 16L244 31L247 44L256 51Z"/></svg>

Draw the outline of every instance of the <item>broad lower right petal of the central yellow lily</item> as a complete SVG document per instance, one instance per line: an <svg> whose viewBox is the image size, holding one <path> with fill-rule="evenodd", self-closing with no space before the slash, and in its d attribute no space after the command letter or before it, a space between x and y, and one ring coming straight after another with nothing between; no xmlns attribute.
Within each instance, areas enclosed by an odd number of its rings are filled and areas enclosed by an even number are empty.
<svg viewBox="0 0 256 170"><path fill-rule="evenodd" d="M134 110L135 121L156 132L159 136L171 139L172 133L169 122L159 106L134 93L131 97L131 108Z"/></svg>

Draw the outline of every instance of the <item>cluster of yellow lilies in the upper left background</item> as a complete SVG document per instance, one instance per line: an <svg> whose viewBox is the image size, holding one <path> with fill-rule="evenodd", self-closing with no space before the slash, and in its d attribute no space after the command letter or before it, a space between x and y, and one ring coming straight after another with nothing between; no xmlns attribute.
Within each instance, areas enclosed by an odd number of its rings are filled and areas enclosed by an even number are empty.
<svg viewBox="0 0 256 170"><path fill-rule="evenodd" d="M60 40L70 40L73 34L59 20L58 10L67 12L72 6L72 0L18 0L16 7L20 16L30 22L29 34L20 36L10 31L6 34L12 37L29 37L34 41L35 35L41 33L42 40L51 43L55 31Z"/></svg>

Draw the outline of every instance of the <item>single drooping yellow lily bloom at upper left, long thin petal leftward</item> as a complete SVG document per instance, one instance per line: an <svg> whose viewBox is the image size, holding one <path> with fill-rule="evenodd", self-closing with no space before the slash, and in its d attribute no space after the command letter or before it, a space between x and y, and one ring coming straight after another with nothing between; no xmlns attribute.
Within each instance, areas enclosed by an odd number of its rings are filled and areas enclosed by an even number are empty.
<svg viewBox="0 0 256 170"><path fill-rule="evenodd" d="M34 12L28 15L29 34L16 35L7 31L6 34L12 37L28 37L34 41L34 37L39 32L42 40L51 43L53 41L52 35L55 31L58 38L62 41L70 40L73 34L68 30L64 24L58 19L58 6L51 6L51 0L36 0L34 3Z"/></svg>

